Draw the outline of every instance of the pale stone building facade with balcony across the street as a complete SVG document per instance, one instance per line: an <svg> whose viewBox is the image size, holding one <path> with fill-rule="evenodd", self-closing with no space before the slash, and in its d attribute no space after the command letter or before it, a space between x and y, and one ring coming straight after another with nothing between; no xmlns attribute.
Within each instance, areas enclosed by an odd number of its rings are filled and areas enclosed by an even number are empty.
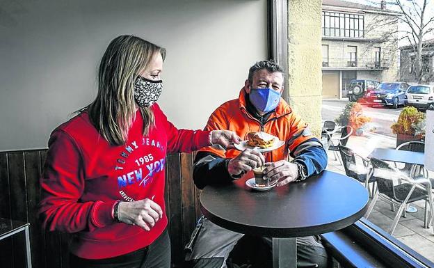
<svg viewBox="0 0 434 268"><path fill-rule="evenodd" d="M399 13L340 0L322 3L323 98L346 98L352 79L397 81Z"/></svg>

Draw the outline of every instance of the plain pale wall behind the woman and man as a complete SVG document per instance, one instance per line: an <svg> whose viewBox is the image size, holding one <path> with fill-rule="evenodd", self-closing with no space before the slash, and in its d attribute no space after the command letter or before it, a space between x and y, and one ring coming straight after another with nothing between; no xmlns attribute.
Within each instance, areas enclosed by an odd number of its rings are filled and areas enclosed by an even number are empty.
<svg viewBox="0 0 434 268"><path fill-rule="evenodd" d="M0 2L0 150L45 148L49 133L97 92L116 36L166 47L159 104L179 128L202 128L267 58L266 0Z"/></svg>

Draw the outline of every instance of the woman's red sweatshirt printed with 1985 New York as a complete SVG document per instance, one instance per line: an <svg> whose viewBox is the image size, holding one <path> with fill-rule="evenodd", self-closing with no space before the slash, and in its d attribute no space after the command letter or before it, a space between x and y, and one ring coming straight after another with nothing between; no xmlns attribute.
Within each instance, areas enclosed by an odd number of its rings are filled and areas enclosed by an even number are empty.
<svg viewBox="0 0 434 268"><path fill-rule="evenodd" d="M49 230L74 232L70 251L81 258L123 255L154 242L166 228L165 159L170 152L191 152L209 145L209 132L177 129L157 104L155 127L143 136L137 111L125 145L110 145L81 113L51 133L40 184L40 214ZM117 223L116 200L150 198L163 219L148 232Z"/></svg>

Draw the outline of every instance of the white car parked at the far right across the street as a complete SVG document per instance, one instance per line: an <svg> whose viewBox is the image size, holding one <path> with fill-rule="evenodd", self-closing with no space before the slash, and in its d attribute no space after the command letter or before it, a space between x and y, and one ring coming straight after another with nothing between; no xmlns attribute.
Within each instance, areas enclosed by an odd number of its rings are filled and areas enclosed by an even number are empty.
<svg viewBox="0 0 434 268"><path fill-rule="evenodd" d="M434 86L415 85L410 86L405 93L405 103L418 109L426 110L431 104L434 105Z"/></svg>

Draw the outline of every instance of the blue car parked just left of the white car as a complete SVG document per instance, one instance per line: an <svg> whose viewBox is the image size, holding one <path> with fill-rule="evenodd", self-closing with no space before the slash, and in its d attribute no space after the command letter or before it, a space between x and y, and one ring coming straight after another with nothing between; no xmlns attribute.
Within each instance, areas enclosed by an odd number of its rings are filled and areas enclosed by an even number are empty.
<svg viewBox="0 0 434 268"><path fill-rule="evenodd" d="M383 82L367 93L366 101L368 105L383 104L398 109L399 105L405 105L405 92L409 86L405 82Z"/></svg>

